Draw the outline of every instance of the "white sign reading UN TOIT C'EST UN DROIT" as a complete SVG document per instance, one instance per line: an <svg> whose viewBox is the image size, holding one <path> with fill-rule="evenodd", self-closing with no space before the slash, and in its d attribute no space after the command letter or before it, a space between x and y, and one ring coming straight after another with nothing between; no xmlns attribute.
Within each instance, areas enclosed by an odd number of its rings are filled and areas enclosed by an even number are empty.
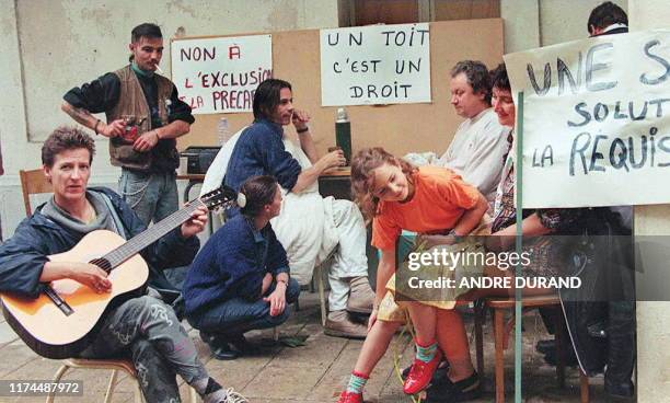
<svg viewBox="0 0 670 403"><path fill-rule="evenodd" d="M428 24L321 30L322 106L430 102Z"/></svg>

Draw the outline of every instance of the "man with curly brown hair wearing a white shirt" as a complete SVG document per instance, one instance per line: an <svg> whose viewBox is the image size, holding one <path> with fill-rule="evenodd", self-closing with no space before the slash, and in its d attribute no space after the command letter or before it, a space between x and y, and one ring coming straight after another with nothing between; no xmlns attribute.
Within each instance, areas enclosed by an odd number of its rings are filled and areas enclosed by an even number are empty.
<svg viewBox="0 0 670 403"><path fill-rule="evenodd" d="M465 118L437 164L455 171L488 200L496 196L509 128L490 107L490 78L481 61L459 61L451 69L451 104Z"/></svg>

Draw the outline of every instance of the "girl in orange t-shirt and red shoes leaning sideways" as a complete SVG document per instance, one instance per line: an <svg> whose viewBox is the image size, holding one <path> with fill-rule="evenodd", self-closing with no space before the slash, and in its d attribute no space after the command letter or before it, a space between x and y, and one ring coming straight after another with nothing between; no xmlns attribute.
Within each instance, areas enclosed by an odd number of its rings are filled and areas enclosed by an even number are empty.
<svg viewBox="0 0 670 403"><path fill-rule="evenodd" d="M417 169L382 148L362 149L356 154L351 162L351 187L363 216L372 219L372 245L381 251L381 260L368 336L339 403L362 402L362 388L403 321L404 315L397 314L393 296L386 290L394 288L395 247L402 230L419 233L451 230L448 238L453 243L477 228L488 208L486 198L452 171L437 166ZM472 383L467 389L476 393L478 377L470 360L463 322L452 309L453 301L411 300L402 304L414 324L417 347L403 391L414 394L428 385L440 361L439 344L450 364L450 380Z"/></svg>

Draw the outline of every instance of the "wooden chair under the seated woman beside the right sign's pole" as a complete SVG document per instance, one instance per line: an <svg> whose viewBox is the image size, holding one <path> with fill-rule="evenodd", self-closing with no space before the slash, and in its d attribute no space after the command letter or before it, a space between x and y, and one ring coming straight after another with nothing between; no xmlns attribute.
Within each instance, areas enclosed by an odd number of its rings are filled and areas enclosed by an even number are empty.
<svg viewBox="0 0 670 403"><path fill-rule="evenodd" d="M496 403L505 403L505 349L507 348L507 329L505 326L505 312L513 311L515 299L513 298L486 298L483 300L483 304L480 304L475 309L475 344L477 354L477 371L484 373L484 341L482 333L482 325L485 319L486 309L493 310L494 313L494 337L495 337L495 383L496 383ZM550 310L556 310L554 314L554 327L556 338L557 352L563 352L565 344L565 336L567 335L565 322L563 320L563 312L561 308L561 300L558 296L534 296L523 297L522 309L536 309L546 308ZM565 357L564 354L556 355L556 377L559 388L565 388ZM589 402L589 378L579 370L580 381L580 398L581 403Z"/></svg>

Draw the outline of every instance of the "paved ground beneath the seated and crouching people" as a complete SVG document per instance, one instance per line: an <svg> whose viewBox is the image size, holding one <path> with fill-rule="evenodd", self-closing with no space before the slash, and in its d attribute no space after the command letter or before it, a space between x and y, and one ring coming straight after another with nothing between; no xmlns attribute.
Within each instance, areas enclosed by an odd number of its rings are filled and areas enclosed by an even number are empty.
<svg viewBox="0 0 670 403"><path fill-rule="evenodd" d="M472 319L467 319L469 333L472 334ZM485 394L477 403L494 401L493 383L493 332L490 320L485 332ZM281 336L305 335L307 345L285 347L270 345L259 349L252 357L234 361L218 361L209 355L198 333L190 330L201 359L211 375L226 385L241 391L251 402L335 402L336 395L348 380L361 346L359 341L330 337L323 334L319 303L315 293L304 291L300 297L300 311L284 326ZM568 368L567 388L556 387L555 370L544 365L542 357L534 353L533 346L545 337L544 327L536 315L524 319L523 338L523 395L524 402L579 402L579 378L574 368ZM250 339L270 344L272 331L254 332ZM474 357L474 349L473 357ZM390 353L372 373L366 388L368 402L391 403L411 402L401 391L401 384L393 371L393 356L400 355L400 365L406 366L412 356L408 337L396 337ZM513 349L506 353L507 401L513 402ZM36 356L12 332L4 319L0 319L0 380L50 379L59 367L59 361ZM107 383L108 371L72 370L68 379L84 382L83 398L59 398L57 402L102 402ZM131 381L123 378L117 387L114 402L132 402ZM184 388L183 388L184 389ZM185 390L185 389L184 389ZM603 394L602 378L591 379L591 402L608 402ZM186 393L183 394L186 396ZM44 402L44 398L0 396L0 402Z"/></svg>

